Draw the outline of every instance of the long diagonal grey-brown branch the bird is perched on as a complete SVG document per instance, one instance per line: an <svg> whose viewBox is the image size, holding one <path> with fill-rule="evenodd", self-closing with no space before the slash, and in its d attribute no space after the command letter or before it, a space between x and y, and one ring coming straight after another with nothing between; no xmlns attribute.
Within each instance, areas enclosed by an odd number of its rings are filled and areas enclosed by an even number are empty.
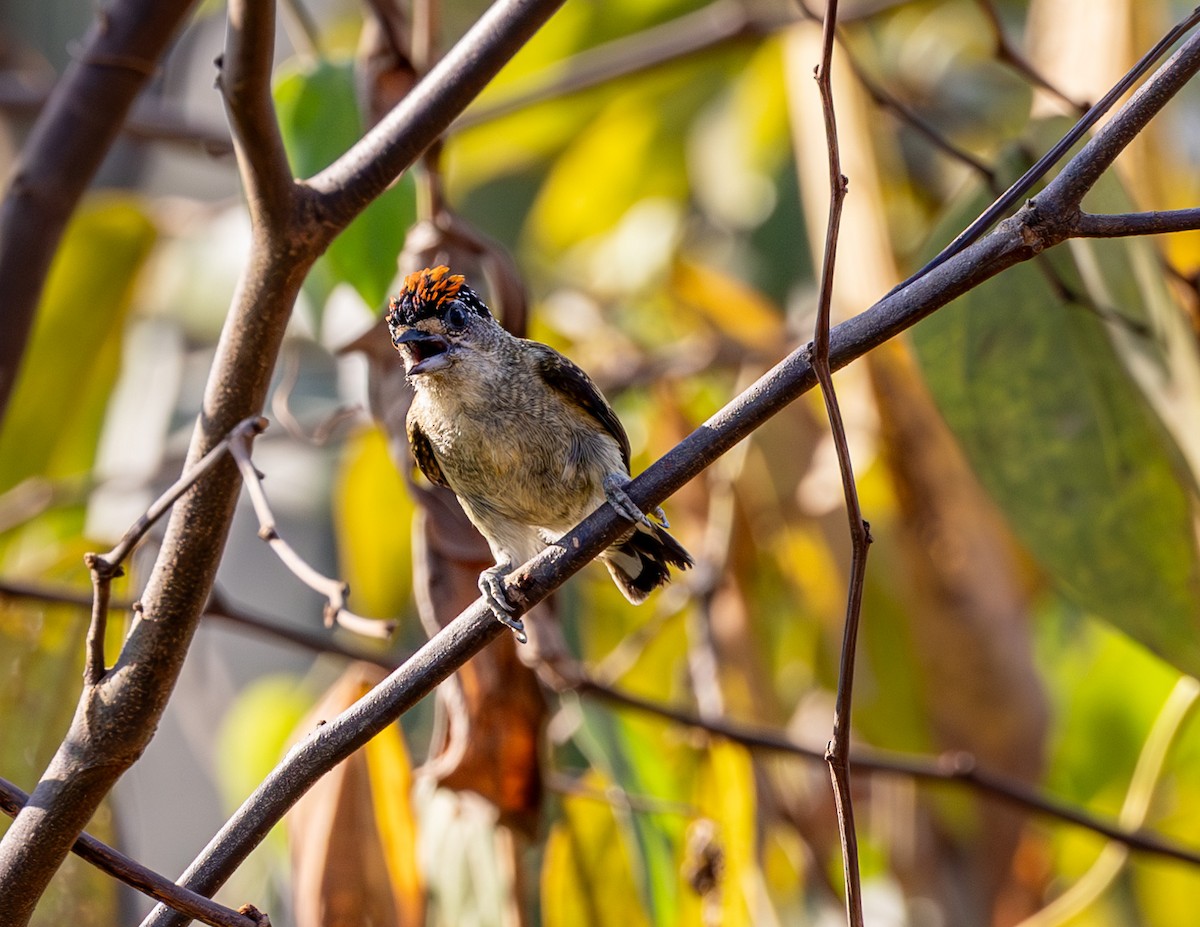
<svg viewBox="0 0 1200 927"><path fill-rule="evenodd" d="M1110 125L1126 119L1145 124L1150 115L1144 110L1154 107L1157 112L1162 106L1160 94L1148 91L1160 83L1177 90L1196 70L1200 70L1200 41L1184 46L1151 79L1147 91L1128 101ZM1068 167L1081 159L1096 157L1096 151L1085 148ZM834 328L829 336L830 370L845 366L985 280L1069 235L1069 216L1022 208L979 241ZM660 504L815 384L809 351L791 353L632 480L628 488L630 497L643 510ZM601 507L557 545L512 574L506 598L518 615L528 611L626 528L611 507ZM503 632L503 626L476 600L356 705L298 744L188 867L182 884L194 891L215 891L325 771L365 744ZM162 927L179 922L160 908L145 925Z"/></svg>

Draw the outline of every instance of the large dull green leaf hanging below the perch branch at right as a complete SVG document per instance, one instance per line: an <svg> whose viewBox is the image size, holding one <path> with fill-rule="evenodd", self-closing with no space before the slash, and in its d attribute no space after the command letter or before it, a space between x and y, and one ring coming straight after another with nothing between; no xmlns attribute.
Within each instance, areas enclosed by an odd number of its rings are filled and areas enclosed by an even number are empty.
<svg viewBox="0 0 1200 927"><path fill-rule="evenodd" d="M982 204L953 210L938 238ZM1144 247L1055 249L936 312L912 337L976 474L1057 588L1195 674L1195 484L1124 363L1130 339L1150 340L1138 322L1162 298L1134 273Z"/></svg>

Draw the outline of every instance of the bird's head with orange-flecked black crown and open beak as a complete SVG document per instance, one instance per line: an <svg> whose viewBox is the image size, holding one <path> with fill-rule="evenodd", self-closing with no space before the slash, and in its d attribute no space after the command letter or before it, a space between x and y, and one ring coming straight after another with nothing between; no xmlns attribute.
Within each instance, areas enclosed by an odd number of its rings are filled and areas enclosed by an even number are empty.
<svg viewBox="0 0 1200 927"><path fill-rule="evenodd" d="M500 331L463 276L444 265L404 277L388 305L386 321L409 377L448 370L485 351Z"/></svg>

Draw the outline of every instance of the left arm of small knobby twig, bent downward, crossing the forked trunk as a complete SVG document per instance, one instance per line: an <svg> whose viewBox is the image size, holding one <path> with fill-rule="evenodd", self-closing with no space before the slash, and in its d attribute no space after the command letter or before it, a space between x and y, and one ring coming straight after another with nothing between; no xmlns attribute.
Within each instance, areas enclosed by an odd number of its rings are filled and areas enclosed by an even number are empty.
<svg viewBox="0 0 1200 927"><path fill-rule="evenodd" d="M84 664L84 681L88 686L96 686L104 678L107 670L104 660L104 632L108 626L112 584L114 579L124 575L125 570L121 564L130 556L130 551L145 537L145 533L150 531L154 524L175 504L175 501L187 492L196 480L212 468L212 465L229 449L232 442L248 439L248 435L258 433L264 427L266 427L266 419L257 417L244 419L215 448L200 457L193 466L188 467L170 489L156 498L150 508L121 536L115 548L107 554L84 555L84 563L91 573L94 590L91 624L88 628L88 656Z"/></svg>

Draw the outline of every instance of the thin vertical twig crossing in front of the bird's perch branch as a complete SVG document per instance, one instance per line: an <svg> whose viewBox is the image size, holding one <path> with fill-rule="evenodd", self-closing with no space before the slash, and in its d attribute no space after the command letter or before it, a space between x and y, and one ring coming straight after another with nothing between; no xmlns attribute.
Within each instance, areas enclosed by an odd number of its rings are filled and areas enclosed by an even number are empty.
<svg viewBox="0 0 1200 927"><path fill-rule="evenodd" d="M826 750L829 778L833 783L834 807L841 837L841 860L846 879L846 916L851 927L863 925L863 887L858 872L858 836L854 831L854 807L850 789L850 713L854 690L854 656L858 651L858 626L863 609L863 586L866 578L866 551L871 532L863 520L854 484L854 466L846 441L846 425L841 418L838 393L829 367L829 319L833 313L833 277L838 262L838 233L846 198L846 178L841 173L841 151L838 145L838 119L833 102L833 47L838 29L838 0L828 0L821 30L821 64L816 71L824 115L826 150L829 154L829 222L826 227L824 257L821 264L821 289L817 297L816 328L812 335L812 370L821 385L829 429L838 451L841 486L846 497L850 521L852 558L850 588L846 600L846 624L838 669L838 694L834 702L833 737Z"/></svg>

